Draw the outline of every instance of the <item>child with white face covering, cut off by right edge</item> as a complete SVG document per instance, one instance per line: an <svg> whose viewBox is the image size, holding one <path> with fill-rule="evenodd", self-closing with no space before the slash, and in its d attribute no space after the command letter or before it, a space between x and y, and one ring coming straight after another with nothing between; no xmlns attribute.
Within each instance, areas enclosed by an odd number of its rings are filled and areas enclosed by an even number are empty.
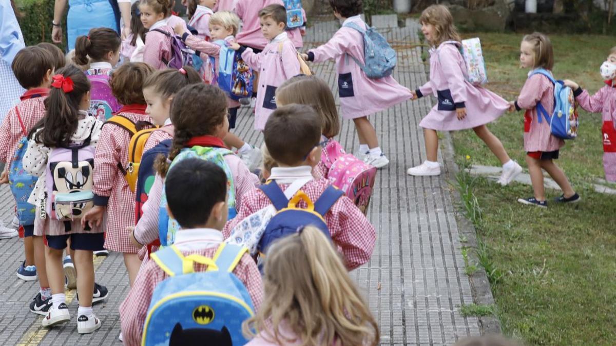
<svg viewBox="0 0 616 346"><path fill-rule="evenodd" d="M603 169L606 172L606 180L616 182L616 47L612 47L607 60L599 69L601 78L606 86L599 89L594 95L573 81L565 79L565 85L573 89L575 100L580 107L593 113L603 114ZM612 142L613 141L613 142Z"/></svg>

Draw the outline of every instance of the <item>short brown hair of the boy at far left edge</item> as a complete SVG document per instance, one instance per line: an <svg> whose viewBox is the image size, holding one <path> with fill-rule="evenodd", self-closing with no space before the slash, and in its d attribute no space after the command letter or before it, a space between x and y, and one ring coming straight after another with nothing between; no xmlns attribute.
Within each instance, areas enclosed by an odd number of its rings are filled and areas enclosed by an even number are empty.
<svg viewBox="0 0 616 346"><path fill-rule="evenodd" d="M24 89L43 84L48 70L54 70L55 59L49 50L31 46L17 52L10 67Z"/></svg>

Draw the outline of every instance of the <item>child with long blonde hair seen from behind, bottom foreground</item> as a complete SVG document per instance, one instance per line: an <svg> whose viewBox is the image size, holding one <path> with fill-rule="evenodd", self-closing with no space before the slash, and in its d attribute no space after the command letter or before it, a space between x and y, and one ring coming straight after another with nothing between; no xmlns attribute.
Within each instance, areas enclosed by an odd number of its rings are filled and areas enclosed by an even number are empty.
<svg viewBox="0 0 616 346"><path fill-rule="evenodd" d="M263 281L261 310L243 324L254 337L246 345L378 345L368 304L318 228L304 227L273 244Z"/></svg>

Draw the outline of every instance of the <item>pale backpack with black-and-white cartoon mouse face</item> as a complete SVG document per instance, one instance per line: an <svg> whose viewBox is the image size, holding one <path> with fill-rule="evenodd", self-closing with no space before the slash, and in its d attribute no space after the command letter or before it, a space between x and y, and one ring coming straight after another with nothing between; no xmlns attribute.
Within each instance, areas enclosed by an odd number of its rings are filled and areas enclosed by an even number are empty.
<svg viewBox="0 0 616 346"><path fill-rule="evenodd" d="M46 207L47 214L54 220L81 219L94 206L92 131L94 125L80 145L53 148L49 155L45 179Z"/></svg>

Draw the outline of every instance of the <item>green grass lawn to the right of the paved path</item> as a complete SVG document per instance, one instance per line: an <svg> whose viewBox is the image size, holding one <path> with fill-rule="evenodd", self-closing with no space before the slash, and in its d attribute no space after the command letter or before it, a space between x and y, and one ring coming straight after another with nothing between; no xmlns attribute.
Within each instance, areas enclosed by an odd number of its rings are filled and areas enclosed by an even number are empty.
<svg viewBox="0 0 616 346"><path fill-rule="evenodd" d="M519 67L521 34L464 34L482 41L487 88L514 100L527 70ZM554 35L558 79L573 79L595 92L604 84L599 66L616 41L607 36ZM475 180L483 212L477 230L493 265L503 276L492 280L496 314L505 334L537 345L616 344L616 196L594 193L589 183L603 178L601 115L580 110L578 139L567 141L559 166L583 197L575 206L551 204L547 210L522 206L532 187L501 188ZM509 155L525 166L523 113L509 113L490 124ZM472 164L500 163L472 131L453 134L456 159ZM548 198L559 191L548 190ZM493 278L492 278L493 279Z"/></svg>

